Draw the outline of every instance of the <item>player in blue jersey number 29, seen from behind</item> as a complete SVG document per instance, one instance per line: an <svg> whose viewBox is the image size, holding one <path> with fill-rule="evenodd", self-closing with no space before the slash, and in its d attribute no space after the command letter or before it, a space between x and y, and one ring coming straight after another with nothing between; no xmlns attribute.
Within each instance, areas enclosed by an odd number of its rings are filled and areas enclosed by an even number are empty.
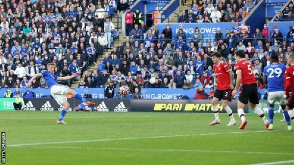
<svg viewBox="0 0 294 165"><path fill-rule="evenodd" d="M270 58L270 65L264 68L263 81L268 84L268 102L270 126L268 130L273 130L273 107L274 103L279 103L283 109L285 119L287 121L288 130L292 130L290 116L286 110L285 87L284 87L284 73L286 66L279 62L278 56Z"/></svg>

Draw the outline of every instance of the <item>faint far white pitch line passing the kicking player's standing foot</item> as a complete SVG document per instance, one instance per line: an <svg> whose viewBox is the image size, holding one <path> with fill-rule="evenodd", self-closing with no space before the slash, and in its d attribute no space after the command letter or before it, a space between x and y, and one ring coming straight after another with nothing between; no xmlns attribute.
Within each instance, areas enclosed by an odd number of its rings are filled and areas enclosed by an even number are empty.
<svg viewBox="0 0 294 165"><path fill-rule="evenodd" d="M66 117L66 119L84 119L84 118L147 118L147 117L156 117L156 116L89 116L89 117ZM48 118L0 118L0 120L17 120L17 119L57 119L57 117L48 117Z"/></svg>

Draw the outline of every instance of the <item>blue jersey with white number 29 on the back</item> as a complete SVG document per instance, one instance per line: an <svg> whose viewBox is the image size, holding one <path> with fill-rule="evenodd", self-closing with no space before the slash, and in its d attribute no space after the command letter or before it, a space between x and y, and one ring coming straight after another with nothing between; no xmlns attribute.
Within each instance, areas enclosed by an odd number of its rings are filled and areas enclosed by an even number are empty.
<svg viewBox="0 0 294 165"><path fill-rule="evenodd" d="M268 91L285 91L284 73L286 66L280 63L272 63L264 69L264 74L267 75Z"/></svg>

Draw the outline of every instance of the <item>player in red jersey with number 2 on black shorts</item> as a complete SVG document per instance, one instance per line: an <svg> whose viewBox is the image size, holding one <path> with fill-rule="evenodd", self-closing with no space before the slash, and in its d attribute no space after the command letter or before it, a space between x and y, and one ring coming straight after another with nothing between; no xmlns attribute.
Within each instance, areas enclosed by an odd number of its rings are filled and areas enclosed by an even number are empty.
<svg viewBox="0 0 294 165"><path fill-rule="evenodd" d="M232 100L231 93L234 89L233 80L234 73L231 70L230 66L226 62L221 61L221 54L215 52L211 54L211 58L213 63L214 71L215 71L215 83L214 86L217 88L214 96L212 98L212 106L214 111L215 120L209 125L220 124L219 118L219 107L218 102L222 99L222 107L229 115L231 121L227 126L232 126L236 124L236 120L234 119L234 115L232 109L228 106L228 102Z"/></svg>

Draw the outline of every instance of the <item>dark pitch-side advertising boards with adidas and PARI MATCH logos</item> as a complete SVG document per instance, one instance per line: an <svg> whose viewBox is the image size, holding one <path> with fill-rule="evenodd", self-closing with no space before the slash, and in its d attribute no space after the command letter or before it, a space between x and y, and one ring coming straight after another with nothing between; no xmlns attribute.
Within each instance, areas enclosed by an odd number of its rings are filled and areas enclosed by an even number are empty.
<svg viewBox="0 0 294 165"><path fill-rule="evenodd" d="M14 111L14 98L0 98L0 111ZM194 112L194 113L212 113L211 100L127 100L127 99L88 99L96 103L100 112ZM69 111L80 103L76 99L68 99L70 103ZM52 98L46 99L26 99L25 109L27 111L61 111L62 107ZM237 100L229 103L234 113L237 113ZM266 100L260 100L258 105L264 113L269 112L269 103ZM90 106L92 107L92 106ZM142 108L144 107L144 108ZM225 113L221 104L219 104L221 113ZM245 113L254 113L246 106ZM278 103L274 106L274 113L283 113Z"/></svg>

